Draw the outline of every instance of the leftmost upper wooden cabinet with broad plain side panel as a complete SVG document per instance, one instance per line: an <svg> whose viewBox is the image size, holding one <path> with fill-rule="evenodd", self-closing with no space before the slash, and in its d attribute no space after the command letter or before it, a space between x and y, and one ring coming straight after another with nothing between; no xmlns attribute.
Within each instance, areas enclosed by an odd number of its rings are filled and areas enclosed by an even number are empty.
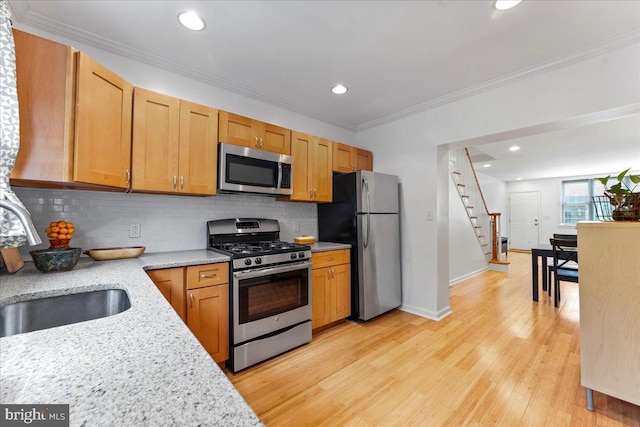
<svg viewBox="0 0 640 427"><path fill-rule="evenodd" d="M14 30L22 185L128 189L133 87L86 54Z"/></svg>

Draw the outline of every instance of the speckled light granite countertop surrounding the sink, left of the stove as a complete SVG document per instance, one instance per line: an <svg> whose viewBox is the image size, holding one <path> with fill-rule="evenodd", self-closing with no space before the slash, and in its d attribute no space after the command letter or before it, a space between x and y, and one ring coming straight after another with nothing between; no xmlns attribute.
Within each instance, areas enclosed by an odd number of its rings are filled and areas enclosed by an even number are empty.
<svg viewBox="0 0 640 427"><path fill-rule="evenodd" d="M107 288L131 308L111 317L0 338L4 404L69 404L72 426L262 425L144 270L226 262L207 250L94 261L3 275L0 305Z"/></svg>

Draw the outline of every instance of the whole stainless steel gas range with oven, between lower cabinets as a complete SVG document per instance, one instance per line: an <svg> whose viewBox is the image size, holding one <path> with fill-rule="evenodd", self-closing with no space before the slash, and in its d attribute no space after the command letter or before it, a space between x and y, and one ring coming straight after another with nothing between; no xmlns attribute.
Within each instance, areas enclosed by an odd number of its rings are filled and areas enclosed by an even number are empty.
<svg viewBox="0 0 640 427"><path fill-rule="evenodd" d="M209 249L232 258L232 372L311 341L311 247L279 239L273 219L207 222Z"/></svg>

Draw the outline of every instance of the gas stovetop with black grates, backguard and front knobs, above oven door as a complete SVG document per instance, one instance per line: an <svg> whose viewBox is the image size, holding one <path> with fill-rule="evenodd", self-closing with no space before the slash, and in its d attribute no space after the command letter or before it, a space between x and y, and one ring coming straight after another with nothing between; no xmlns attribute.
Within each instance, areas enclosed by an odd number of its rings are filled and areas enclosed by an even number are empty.
<svg viewBox="0 0 640 427"><path fill-rule="evenodd" d="M311 259L311 246L279 240L277 220L216 220L207 222L207 230L209 249L230 256L236 270Z"/></svg>

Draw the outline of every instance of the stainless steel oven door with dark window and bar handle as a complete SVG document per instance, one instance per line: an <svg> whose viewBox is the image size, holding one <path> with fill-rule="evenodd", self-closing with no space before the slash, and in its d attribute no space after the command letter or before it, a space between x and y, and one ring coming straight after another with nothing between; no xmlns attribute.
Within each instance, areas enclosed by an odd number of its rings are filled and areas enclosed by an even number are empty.
<svg viewBox="0 0 640 427"><path fill-rule="evenodd" d="M311 320L311 262L233 273L233 344Z"/></svg>

